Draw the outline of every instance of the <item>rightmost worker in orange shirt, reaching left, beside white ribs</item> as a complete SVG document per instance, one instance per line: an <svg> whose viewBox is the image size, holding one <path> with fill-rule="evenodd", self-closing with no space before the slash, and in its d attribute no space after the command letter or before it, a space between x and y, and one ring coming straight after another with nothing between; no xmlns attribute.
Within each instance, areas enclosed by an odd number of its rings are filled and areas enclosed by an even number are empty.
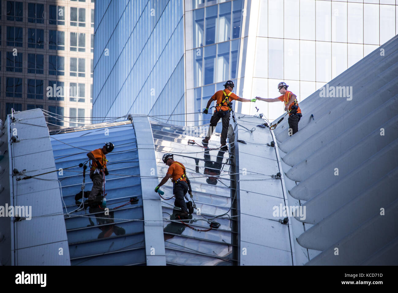
<svg viewBox="0 0 398 293"><path fill-rule="evenodd" d="M256 96L256 99L265 102L285 102L285 111L289 112L289 119L287 120L289 122L289 135L293 135L298 132L298 122L300 121L302 114L301 109L298 106L297 96L293 94L293 92L287 90L288 87L289 86L286 85L286 83L281 82L278 85L278 90L282 94L281 96L269 99ZM290 134L290 132L292 134Z"/></svg>

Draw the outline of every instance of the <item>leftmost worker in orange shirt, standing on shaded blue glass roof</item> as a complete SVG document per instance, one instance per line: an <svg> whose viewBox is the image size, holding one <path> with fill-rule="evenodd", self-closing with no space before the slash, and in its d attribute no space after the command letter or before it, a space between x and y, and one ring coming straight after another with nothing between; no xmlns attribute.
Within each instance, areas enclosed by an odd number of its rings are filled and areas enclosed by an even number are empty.
<svg viewBox="0 0 398 293"><path fill-rule="evenodd" d="M102 191L103 184L103 173L108 175L108 169L106 167L107 159L106 154L113 151L113 144L108 142L101 149L94 149L87 153L87 157L92 160L92 167L90 169L90 178L93 181L93 187L90 195L88 196L88 205L96 205L100 202L96 201L98 193Z"/></svg>

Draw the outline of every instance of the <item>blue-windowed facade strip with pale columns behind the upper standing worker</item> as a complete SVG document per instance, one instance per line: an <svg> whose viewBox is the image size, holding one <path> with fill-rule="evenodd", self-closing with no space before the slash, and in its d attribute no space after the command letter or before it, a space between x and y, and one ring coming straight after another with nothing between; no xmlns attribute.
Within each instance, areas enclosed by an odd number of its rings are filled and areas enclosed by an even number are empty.
<svg viewBox="0 0 398 293"><path fill-rule="evenodd" d="M243 5L242 0L193 0L192 49L186 52L193 56L192 65L187 64L193 70L193 83L187 84L187 88L193 88L193 112L206 108L209 98L224 88L225 81L232 80L237 85ZM189 21L187 18L186 22ZM208 123L210 118L211 115L195 114L195 120L201 124Z"/></svg>

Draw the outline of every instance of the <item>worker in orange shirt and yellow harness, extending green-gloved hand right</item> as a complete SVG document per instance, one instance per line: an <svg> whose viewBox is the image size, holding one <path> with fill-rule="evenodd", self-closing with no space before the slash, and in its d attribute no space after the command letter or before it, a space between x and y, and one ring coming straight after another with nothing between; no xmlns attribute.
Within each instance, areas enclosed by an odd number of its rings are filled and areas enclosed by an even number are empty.
<svg viewBox="0 0 398 293"><path fill-rule="evenodd" d="M207 114L209 110L209 106L211 102L217 100L217 106L216 110L214 111L213 116L211 116L210 119L210 126L209 126L209 132L207 133L207 136L205 137L204 140L202 140L204 145L207 145L209 143L209 140L211 138L211 135L213 134L214 129L217 126L217 123L219 122L220 119L222 119L222 131L221 131L221 150L223 151L228 151L228 146L226 145L226 137L228 133L228 127L229 127L229 116L230 112L232 110L232 101L237 100L240 102L256 102L256 99L244 99L238 97L236 94L232 92L234 89L235 85L233 81L227 81L224 84L224 90L218 90L211 96L209 101L207 102L206 109L203 111L203 114Z"/></svg>

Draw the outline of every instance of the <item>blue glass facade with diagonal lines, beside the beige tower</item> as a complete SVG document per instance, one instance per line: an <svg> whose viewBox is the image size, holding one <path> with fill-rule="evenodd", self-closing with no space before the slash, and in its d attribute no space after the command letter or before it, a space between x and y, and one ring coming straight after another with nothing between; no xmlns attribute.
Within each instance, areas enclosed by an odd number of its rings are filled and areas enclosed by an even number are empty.
<svg viewBox="0 0 398 293"><path fill-rule="evenodd" d="M185 113L183 1L97 1L94 13L93 116Z"/></svg>

